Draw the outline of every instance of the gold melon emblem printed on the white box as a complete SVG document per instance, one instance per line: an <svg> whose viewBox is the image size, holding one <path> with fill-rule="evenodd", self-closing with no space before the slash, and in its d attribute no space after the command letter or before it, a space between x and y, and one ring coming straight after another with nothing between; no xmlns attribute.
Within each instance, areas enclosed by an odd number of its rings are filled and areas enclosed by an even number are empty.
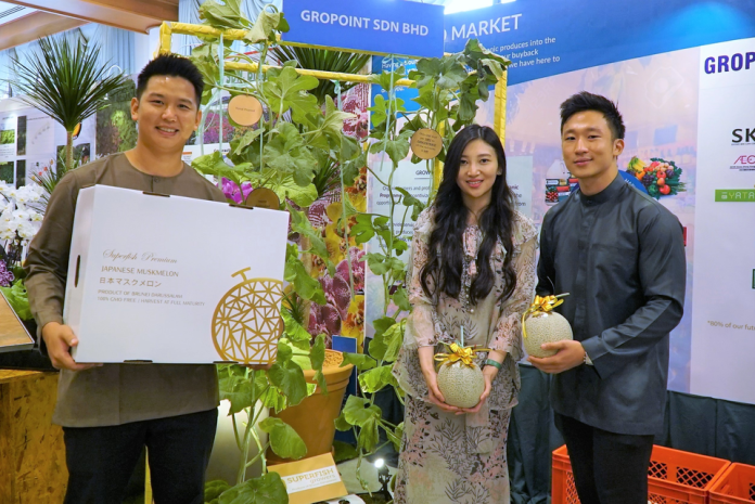
<svg viewBox="0 0 755 504"><path fill-rule="evenodd" d="M274 361L282 321L283 282L246 279L248 268L236 271L243 281L220 300L213 316L213 341L218 354L242 364Z"/></svg>

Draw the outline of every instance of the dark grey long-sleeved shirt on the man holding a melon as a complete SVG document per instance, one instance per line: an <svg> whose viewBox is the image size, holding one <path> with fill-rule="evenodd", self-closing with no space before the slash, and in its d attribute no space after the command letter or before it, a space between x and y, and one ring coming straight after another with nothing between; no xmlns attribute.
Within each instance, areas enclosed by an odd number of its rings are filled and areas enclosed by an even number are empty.
<svg viewBox="0 0 755 504"><path fill-rule="evenodd" d="M576 191L546 214L537 292L571 294L556 311L594 364L553 377L558 413L617 434L662 429L668 339L686 279L678 219L622 177L592 196Z"/></svg>

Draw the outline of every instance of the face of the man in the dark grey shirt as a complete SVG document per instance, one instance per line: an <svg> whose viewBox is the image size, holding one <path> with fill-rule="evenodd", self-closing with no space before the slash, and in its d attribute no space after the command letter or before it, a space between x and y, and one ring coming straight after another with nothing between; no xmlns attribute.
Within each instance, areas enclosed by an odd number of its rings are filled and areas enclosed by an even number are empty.
<svg viewBox="0 0 755 504"><path fill-rule="evenodd" d="M578 179L597 179L611 169L624 151L624 140L613 139L602 113L585 111L564 124L561 151L568 171Z"/></svg>

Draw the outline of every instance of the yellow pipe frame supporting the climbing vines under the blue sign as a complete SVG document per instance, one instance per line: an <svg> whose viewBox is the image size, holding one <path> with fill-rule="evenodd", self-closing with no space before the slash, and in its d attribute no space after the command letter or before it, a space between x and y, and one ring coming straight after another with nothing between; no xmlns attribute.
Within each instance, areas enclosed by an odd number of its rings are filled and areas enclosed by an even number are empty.
<svg viewBox="0 0 755 504"><path fill-rule="evenodd" d="M157 53L169 53L170 52L170 46L171 46L171 39L170 37L172 35L193 35L196 37L216 37L220 38L222 35L222 38L225 40L242 40L246 36L246 30L243 29L225 29L220 30L217 28L213 28L212 26L204 26L204 25L191 25L188 23L169 23L169 22L164 22L163 25L159 27L159 48L157 49ZM302 43L295 43L295 42L285 42L285 41L280 41L281 44L285 46L298 46L298 47L313 47L313 46L306 46ZM319 48L318 49L334 49L334 48ZM256 73L259 69L259 64L257 63L239 63L239 62L226 62L223 64L226 68L229 70L242 70L242 72L251 72L251 73ZM270 66L270 65L263 65L263 72L267 72L270 68L280 68L278 66ZM340 81L345 81L345 82L360 82L360 83L370 83L370 79L373 76L369 75L361 75L361 74L340 74L336 72L322 72L322 70L310 70L306 68L295 68L296 72L299 75L308 75L316 77L321 80L340 80ZM495 96L495 103L494 103L494 118L492 118L492 129L496 131L498 137L501 139L501 143L504 144L506 142L506 101L507 101L507 83L508 83L508 70L503 72L503 75L501 76L500 79L498 79L498 82L496 83L496 90L494 93ZM409 79L399 79L396 81L396 86L406 86L410 87L413 83L412 80ZM437 161L436 166L443 166ZM436 170L439 171L439 170ZM436 173L434 180L434 185L437 189L438 184L440 183L440 175Z"/></svg>

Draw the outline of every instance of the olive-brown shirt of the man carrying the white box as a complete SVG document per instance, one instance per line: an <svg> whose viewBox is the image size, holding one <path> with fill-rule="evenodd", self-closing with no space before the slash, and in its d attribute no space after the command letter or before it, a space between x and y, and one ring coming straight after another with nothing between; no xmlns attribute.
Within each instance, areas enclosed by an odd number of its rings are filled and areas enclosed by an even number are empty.
<svg viewBox="0 0 755 504"><path fill-rule="evenodd" d="M25 263L26 288L40 335L44 324L63 323L76 199L81 188L92 184L226 202L219 189L188 165L175 177L153 177L137 170L125 154L114 154L67 173L50 197ZM53 422L64 427L120 425L212 410L217 404L214 365L105 364L61 372Z"/></svg>

